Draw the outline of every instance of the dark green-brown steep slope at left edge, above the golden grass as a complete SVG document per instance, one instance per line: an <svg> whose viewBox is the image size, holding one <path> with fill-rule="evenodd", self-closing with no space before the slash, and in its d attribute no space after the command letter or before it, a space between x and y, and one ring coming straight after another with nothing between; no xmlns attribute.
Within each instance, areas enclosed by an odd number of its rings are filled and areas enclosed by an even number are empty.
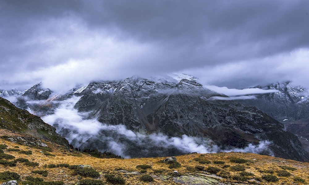
<svg viewBox="0 0 309 185"><path fill-rule="evenodd" d="M69 148L69 142L57 134L54 127L44 123L40 117L30 114L27 110L15 107L2 97L0 97L0 128L32 136L33 138L21 139L29 144L44 146L44 144L35 141L34 137L36 137Z"/></svg>

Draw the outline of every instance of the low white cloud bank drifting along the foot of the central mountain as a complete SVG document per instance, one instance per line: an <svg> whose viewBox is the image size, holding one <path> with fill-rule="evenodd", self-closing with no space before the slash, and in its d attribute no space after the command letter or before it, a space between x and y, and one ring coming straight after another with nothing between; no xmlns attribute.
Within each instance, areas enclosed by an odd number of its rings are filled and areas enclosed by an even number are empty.
<svg viewBox="0 0 309 185"><path fill-rule="evenodd" d="M188 152L250 152L273 155L268 149L269 141L261 141L258 145L249 144L245 148L221 148L212 140L183 135L168 137L162 133L143 135L128 130L124 125L108 125L99 123L96 119L87 119L87 113L79 113L74 109L79 97L61 101L54 114L42 119L54 127L57 132L69 140L75 148L98 149L130 157L150 157L180 155Z"/></svg>

